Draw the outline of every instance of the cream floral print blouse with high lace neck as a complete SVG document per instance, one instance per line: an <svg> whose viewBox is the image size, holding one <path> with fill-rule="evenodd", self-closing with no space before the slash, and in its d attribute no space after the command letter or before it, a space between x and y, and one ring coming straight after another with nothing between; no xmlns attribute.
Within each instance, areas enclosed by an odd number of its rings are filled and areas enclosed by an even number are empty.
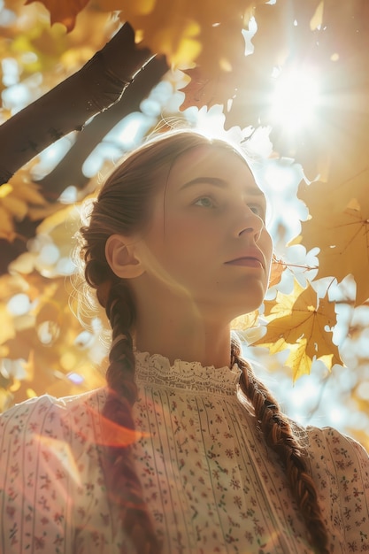
<svg viewBox="0 0 369 554"><path fill-rule="evenodd" d="M311 554L281 463L237 394L238 368L136 361L135 464L163 554ZM135 552L105 491L105 398L41 396L0 417L1 554ZM298 430L331 552L369 552L368 455L332 428Z"/></svg>

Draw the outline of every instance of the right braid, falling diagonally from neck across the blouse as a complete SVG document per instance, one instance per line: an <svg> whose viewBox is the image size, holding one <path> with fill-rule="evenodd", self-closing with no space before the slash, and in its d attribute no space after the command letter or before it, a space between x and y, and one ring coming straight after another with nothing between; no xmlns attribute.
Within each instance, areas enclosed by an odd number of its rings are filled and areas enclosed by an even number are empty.
<svg viewBox="0 0 369 554"><path fill-rule="evenodd" d="M328 554L327 528L318 504L317 489L308 473L304 451L296 441L288 419L281 412L278 403L241 358L241 349L237 342L232 342L232 358L242 370L240 387L254 406L265 442L277 452L285 466L289 485L304 516L311 543L319 554Z"/></svg>

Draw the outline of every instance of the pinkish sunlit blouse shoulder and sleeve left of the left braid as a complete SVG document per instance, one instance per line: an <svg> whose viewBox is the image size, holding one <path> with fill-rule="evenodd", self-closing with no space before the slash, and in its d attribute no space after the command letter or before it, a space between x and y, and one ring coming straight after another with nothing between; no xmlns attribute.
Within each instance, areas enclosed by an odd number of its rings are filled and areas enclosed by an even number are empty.
<svg viewBox="0 0 369 554"><path fill-rule="evenodd" d="M106 512L105 397L105 389L44 395L0 416L0 536L6 552L71 552L75 528L88 527L96 506Z"/></svg>

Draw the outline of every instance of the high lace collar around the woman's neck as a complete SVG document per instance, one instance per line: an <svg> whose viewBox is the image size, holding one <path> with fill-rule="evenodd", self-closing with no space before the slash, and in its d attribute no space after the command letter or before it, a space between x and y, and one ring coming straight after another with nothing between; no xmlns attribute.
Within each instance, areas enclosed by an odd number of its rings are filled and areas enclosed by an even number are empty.
<svg viewBox="0 0 369 554"><path fill-rule="evenodd" d="M232 369L204 367L199 362L175 360L171 365L168 358L160 354L135 351L135 377L140 383L152 383L171 389L197 390L207 393L234 395L241 370L234 364Z"/></svg>

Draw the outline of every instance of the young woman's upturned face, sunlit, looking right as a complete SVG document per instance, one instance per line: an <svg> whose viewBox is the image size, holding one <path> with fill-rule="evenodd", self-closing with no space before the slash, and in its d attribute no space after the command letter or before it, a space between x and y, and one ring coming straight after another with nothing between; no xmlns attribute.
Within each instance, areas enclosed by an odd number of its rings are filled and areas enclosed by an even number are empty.
<svg viewBox="0 0 369 554"><path fill-rule="evenodd" d="M265 196L232 150L201 146L175 161L143 242L155 258L151 278L162 269L200 311L233 319L262 303L273 250Z"/></svg>

